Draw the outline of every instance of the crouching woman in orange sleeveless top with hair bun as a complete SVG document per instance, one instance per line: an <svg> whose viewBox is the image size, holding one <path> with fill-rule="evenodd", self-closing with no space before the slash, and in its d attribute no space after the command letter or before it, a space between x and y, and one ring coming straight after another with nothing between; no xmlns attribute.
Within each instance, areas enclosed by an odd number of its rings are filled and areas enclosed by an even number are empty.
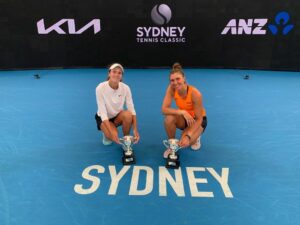
<svg viewBox="0 0 300 225"><path fill-rule="evenodd" d="M173 99L178 109L171 108ZM202 95L195 87L187 84L179 63L175 63L170 72L170 84L162 104L162 113L165 115L164 125L169 139L175 138L176 128L179 128L183 131L179 146L200 149L200 136L207 125ZM167 149L164 157L167 158L170 153L171 150Z"/></svg>

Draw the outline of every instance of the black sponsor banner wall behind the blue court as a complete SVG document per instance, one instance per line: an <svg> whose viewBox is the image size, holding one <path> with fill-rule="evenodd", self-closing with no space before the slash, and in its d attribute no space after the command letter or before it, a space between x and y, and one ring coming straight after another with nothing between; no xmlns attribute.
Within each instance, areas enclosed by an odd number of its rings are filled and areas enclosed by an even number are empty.
<svg viewBox="0 0 300 225"><path fill-rule="evenodd" d="M299 4L292 0L276 7L271 0L18 4L2 4L7 10L0 15L0 69L106 67L116 61L126 67L180 62L300 69Z"/></svg>

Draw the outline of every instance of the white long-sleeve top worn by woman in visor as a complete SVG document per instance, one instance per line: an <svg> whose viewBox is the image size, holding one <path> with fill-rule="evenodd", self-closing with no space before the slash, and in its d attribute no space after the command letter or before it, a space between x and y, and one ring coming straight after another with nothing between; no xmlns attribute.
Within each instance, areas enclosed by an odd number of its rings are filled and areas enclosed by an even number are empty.
<svg viewBox="0 0 300 225"><path fill-rule="evenodd" d="M130 88L122 82L116 90L109 86L108 81L100 83L96 88L96 99L97 114L102 121L117 116L120 111L124 110L125 103L132 115L136 115Z"/></svg>

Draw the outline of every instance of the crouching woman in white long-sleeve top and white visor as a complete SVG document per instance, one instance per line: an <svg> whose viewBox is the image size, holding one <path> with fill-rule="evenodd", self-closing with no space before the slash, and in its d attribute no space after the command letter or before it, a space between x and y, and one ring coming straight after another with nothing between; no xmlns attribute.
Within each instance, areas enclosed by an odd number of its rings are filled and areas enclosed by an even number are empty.
<svg viewBox="0 0 300 225"><path fill-rule="evenodd" d="M96 88L98 111L95 115L97 127L103 132L103 144L120 144L117 127L122 125L123 135L129 135L133 126L135 143L140 139L136 112L128 85L122 82L124 68L119 63L109 67L107 81ZM124 109L126 103L127 110Z"/></svg>

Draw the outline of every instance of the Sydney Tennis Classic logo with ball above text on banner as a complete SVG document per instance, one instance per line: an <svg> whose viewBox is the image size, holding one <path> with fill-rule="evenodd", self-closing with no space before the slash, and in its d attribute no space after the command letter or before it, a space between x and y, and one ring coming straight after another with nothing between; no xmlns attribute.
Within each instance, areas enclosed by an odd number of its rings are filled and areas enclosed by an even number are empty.
<svg viewBox="0 0 300 225"><path fill-rule="evenodd" d="M139 43L183 43L186 42L186 27L167 26L172 11L166 4L155 5L151 10L151 19L158 26L138 27L136 41Z"/></svg>

